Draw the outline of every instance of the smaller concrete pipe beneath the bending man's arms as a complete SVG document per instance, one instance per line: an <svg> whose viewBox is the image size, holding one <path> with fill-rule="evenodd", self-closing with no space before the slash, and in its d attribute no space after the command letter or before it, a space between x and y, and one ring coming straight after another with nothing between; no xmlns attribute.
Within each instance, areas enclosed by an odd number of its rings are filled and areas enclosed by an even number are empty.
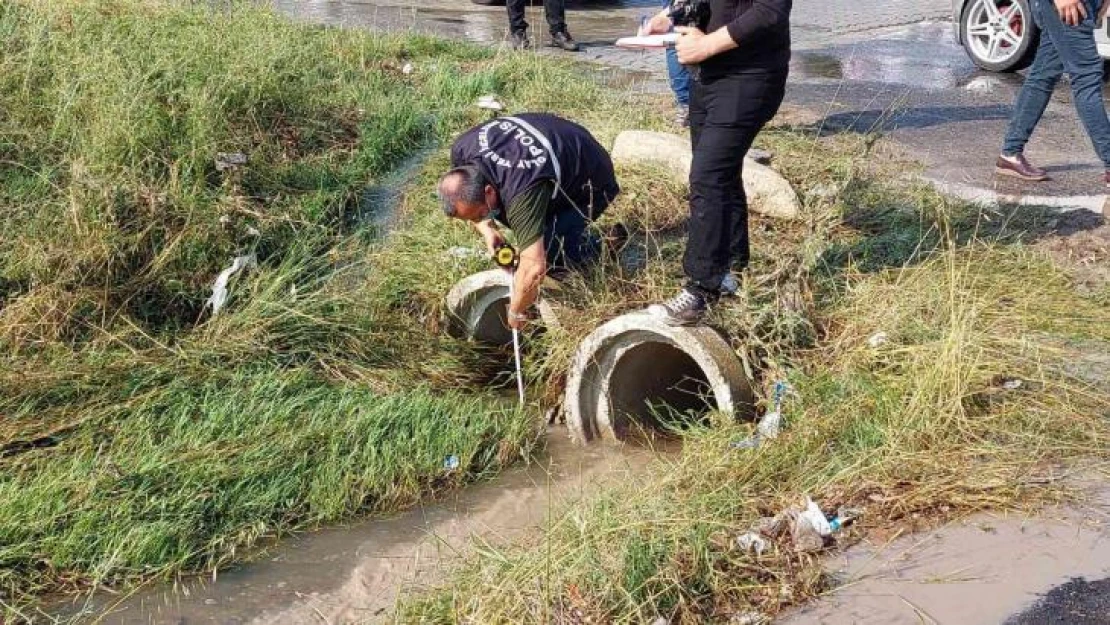
<svg viewBox="0 0 1110 625"><path fill-rule="evenodd" d="M447 293L448 332L487 345L511 344L513 335L506 324L511 286L512 276L501 269L460 280ZM539 300L536 308L545 325L558 324L551 305Z"/></svg>

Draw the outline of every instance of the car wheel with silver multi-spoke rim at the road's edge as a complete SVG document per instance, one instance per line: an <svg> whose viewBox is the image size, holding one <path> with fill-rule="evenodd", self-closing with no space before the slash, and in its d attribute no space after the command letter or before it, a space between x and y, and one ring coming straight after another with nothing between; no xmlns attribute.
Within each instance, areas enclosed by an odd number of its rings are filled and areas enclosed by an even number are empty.
<svg viewBox="0 0 1110 625"><path fill-rule="evenodd" d="M960 34L975 64L1005 72L1032 62L1039 33L1029 0L968 0Z"/></svg>

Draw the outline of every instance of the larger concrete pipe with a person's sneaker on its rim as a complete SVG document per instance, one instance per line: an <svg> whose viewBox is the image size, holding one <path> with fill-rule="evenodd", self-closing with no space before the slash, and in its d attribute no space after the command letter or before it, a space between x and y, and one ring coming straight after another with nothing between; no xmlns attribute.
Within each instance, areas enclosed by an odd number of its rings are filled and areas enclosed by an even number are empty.
<svg viewBox="0 0 1110 625"><path fill-rule="evenodd" d="M754 415L736 353L712 327L672 327L637 312L618 316L578 346L566 385L566 422L579 443L623 441L659 425L658 410Z"/></svg>

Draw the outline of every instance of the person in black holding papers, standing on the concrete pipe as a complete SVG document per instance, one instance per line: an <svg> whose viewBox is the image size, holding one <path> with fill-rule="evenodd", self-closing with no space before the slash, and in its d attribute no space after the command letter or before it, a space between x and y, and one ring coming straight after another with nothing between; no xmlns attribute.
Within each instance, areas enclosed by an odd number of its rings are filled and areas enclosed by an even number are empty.
<svg viewBox="0 0 1110 625"><path fill-rule="evenodd" d="M756 134L783 103L790 62L791 0L707 1L705 28L675 29L679 62L698 65L699 74L690 93L686 284L648 309L672 325L699 323L730 271L747 268L748 205L740 168ZM646 30L662 33L670 26L663 11Z"/></svg>

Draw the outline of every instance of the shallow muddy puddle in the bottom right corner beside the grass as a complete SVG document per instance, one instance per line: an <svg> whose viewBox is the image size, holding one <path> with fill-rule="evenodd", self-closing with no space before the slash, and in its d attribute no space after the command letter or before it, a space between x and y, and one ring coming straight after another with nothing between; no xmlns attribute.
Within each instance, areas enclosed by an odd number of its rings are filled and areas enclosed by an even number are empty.
<svg viewBox="0 0 1110 625"><path fill-rule="evenodd" d="M978 515L886 545L852 547L827 568L844 582L840 588L784 625L1002 623L1071 578L1110 576L1110 490L1102 486L1079 508L1037 517ZM1107 623L1101 616L1052 623Z"/></svg>

